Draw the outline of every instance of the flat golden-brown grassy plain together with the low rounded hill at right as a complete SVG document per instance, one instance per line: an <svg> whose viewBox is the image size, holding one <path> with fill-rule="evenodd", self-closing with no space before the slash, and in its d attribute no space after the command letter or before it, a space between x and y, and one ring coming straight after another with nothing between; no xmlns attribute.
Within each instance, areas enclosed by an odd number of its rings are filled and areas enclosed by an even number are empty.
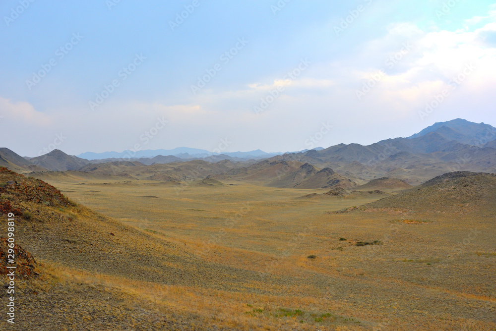
<svg viewBox="0 0 496 331"><path fill-rule="evenodd" d="M471 174L397 195L40 173L129 225L99 229L105 263L80 231L88 261L47 263L177 330L495 330L496 180Z"/></svg>

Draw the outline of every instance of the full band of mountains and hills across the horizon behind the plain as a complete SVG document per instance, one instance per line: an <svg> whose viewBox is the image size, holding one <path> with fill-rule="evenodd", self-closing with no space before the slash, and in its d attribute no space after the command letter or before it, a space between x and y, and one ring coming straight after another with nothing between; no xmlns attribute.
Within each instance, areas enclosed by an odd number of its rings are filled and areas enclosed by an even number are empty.
<svg viewBox="0 0 496 331"><path fill-rule="evenodd" d="M116 152L69 156L60 150L22 158L2 148L0 165L20 173L80 171L174 182L210 176L218 181L248 180L294 188L352 188L383 177L418 185L451 171L496 172L496 128L458 118L435 123L407 138L284 154L261 150L213 154L177 148L140 151L134 158Z"/></svg>

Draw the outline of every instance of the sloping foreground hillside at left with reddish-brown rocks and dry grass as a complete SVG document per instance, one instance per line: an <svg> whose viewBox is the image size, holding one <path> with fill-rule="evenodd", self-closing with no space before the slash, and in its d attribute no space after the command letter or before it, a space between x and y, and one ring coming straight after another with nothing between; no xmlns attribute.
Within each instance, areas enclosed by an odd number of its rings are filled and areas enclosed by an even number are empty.
<svg viewBox="0 0 496 331"><path fill-rule="evenodd" d="M135 321L135 330L190 330L187 320L194 317L174 322L174 316L157 313L151 302L127 289L148 284L250 291L244 279L273 283L270 276L203 261L184 245L95 213L42 180L6 168L0 168L0 194L0 216L16 218L18 266L31 265L23 267L30 276L16 292L22 316L22 328L16 330L61 322L67 330L128 330L129 321ZM1 281L5 273L0 266ZM105 275L105 281L95 285L97 275ZM126 302L132 306L120 309Z"/></svg>

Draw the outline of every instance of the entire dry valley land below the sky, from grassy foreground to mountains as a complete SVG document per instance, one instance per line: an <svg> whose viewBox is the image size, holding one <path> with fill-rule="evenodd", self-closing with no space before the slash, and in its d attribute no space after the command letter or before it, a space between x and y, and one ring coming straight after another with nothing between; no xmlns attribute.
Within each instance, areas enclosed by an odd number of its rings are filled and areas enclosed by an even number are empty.
<svg viewBox="0 0 496 331"><path fill-rule="evenodd" d="M16 330L494 330L496 153L450 140L486 171L449 171L435 134L245 161L1 149L34 259Z"/></svg>

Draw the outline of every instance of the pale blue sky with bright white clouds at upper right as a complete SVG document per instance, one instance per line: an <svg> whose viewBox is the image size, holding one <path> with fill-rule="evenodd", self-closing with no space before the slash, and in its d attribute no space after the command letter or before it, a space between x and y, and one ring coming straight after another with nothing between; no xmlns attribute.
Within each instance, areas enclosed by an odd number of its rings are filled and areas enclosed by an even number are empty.
<svg viewBox="0 0 496 331"><path fill-rule="evenodd" d="M0 145L22 156L496 126L494 1L4 0L0 17Z"/></svg>

